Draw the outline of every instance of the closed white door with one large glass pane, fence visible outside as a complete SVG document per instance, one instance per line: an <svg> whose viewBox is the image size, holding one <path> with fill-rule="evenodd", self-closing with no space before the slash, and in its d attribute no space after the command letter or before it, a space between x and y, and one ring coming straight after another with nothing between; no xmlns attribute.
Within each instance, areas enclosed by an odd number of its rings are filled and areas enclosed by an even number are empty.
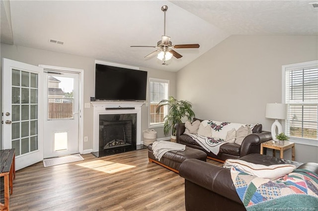
<svg viewBox="0 0 318 211"><path fill-rule="evenodd" d="M44 67L44 158L79 153L80 73Z"/></svg>

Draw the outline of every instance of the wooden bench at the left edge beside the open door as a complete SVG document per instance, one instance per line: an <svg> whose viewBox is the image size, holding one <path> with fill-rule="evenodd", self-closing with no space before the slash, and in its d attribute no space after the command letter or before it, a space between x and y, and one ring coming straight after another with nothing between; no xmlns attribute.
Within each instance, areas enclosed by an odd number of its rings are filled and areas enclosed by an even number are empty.
<svg viewBox="0 0 318 211"><path fill-rule="evenodd" d="M15 150L0 150L0 177L3 177L3 191L0 197L0 209L9 210L9 196L13 192L15 178ZM2 186L2 184L1 184ZM10 193L9 193L10 192ZM4 199L3 199L4 195Z"/></svg>

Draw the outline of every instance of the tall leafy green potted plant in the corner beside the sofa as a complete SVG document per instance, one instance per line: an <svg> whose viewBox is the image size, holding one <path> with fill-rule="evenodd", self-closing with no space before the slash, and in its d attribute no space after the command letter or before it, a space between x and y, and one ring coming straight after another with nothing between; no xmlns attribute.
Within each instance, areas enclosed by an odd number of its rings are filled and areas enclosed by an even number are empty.
<svg viewBox="0 0 318 211"><path fill-rule="evenodd" d="M165 105L169 106L169 112L164 117L163 133L164 135L167 135L172 129L171 141L175 142L176 130L174 128L174 125L177 123L181 123L183 117L186 117L189 121L191 121L195 114L189 101L176 100L172 96L169 96L168 100L161 100L158 104L156 112L159 113L160 108Z"/></svg>

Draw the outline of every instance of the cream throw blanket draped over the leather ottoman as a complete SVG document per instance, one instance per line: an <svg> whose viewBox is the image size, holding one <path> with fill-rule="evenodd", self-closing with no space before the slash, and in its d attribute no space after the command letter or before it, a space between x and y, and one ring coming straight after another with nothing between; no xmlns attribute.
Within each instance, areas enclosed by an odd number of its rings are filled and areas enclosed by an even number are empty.
<svg viewBox="0 0 318 211"><path fill-rule="evenodd" d="M169 151L184 151L185 150L185 145L183 144L178 144L174 142L168 142L168 141L155 141L153 143L153 154L155 158L160 159L162 156Z"/></svg>

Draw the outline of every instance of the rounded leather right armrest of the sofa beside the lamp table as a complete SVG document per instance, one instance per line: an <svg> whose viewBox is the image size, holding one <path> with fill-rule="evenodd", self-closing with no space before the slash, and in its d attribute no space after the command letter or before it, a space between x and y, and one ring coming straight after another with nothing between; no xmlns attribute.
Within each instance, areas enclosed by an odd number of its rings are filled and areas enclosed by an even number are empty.
<svg viewBox="0 0 318 211"><path fill-rule="evenodd" d="M262 131L261 133L253 133L246 136L241 144L239 157L246 156L251 153L260 152L260 144L272 140L271 132Z"/></svg>

